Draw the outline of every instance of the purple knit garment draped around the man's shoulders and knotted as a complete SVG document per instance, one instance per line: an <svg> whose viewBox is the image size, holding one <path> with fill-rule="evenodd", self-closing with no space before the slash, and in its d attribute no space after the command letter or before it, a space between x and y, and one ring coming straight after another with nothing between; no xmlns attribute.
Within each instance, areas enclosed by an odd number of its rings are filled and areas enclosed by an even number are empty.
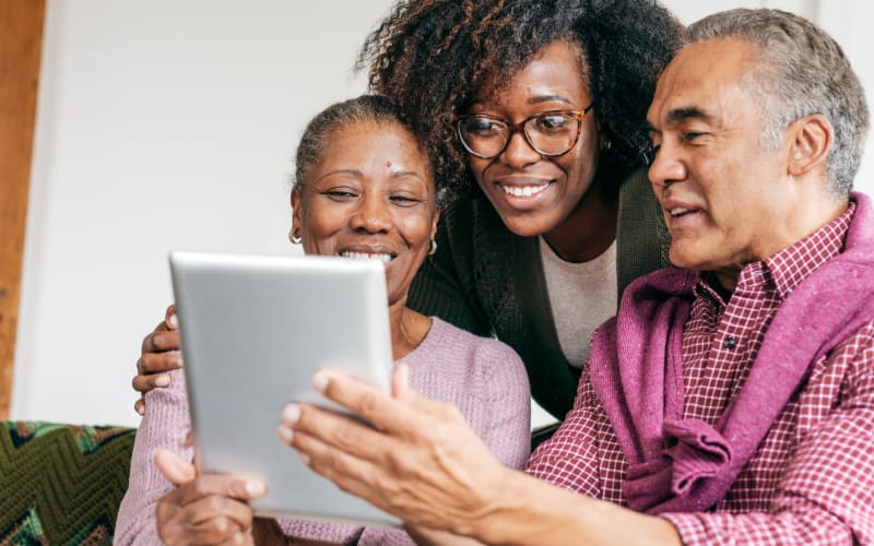
<svg viewBox="0 0 874 546"><path fill-rule="evenodd" d="M845 251L777 310L716 426L683 418L681 345L697 274L661 270L625 290L616 318L592 340L589 373L628 460L623 494L630 508L697 512L719 502L813 363L874 319L874 217L865 195L852 200Z"/></svg>

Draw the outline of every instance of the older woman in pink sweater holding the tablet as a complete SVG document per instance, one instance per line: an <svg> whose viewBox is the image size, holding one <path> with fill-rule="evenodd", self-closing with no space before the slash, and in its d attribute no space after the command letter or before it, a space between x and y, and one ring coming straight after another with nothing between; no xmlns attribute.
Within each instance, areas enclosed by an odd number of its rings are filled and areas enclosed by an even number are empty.
<svg viewBox="0 0 874 546"><path fill-rule="evenodd" d="M417 390L454 405L495 456L521 467L528 456L530 418L528 380L519 357L498 341L476 337L406 306L416 271L436 249L441 190L409 123L383 97L335 104L309 123L296 163L292 241L303 244L308 254L385 261L394 359L403 359ZM179 346L175 331L150 334L145 343L154 343L156 336L168 348ZM179 447L189 428L184 378L178 370L173 373L177 377L168 389L149 394L117 542L245 538L252 521L246 499L252 490L240 486L241 477L193 475L187 462L192 452ZM161 471L169 480L151 460L161 447L184 458L158 452ZM411 542L397 530L295 520L279 520L279 527L288 535L330 542Z"/></svg>

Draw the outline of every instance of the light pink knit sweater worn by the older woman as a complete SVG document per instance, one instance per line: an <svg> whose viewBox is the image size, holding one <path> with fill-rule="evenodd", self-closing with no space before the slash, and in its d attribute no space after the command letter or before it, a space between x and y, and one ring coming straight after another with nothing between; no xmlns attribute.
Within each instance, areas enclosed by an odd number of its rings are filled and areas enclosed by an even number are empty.
<svg viewBox="0 0 874 546"><path fill-rule="evenodd" d="M434 318L428 335L403 358L418 392L456 405L468 424L504 464L521 468L529 454L528 376L519 356L496 340L477 337ZM116 544L160 544L155 507L173 485L152 462L155 448L192 459L179 447L190 428L185 378L173 372L170 387L146 395L146 412L137 432L130 483L118 512ZM279 415L276 415L279 419ZM277 440L279 441L279 440ZM279 520L286 534L357 544L413 544L401 530L303 520Z"/></svg>

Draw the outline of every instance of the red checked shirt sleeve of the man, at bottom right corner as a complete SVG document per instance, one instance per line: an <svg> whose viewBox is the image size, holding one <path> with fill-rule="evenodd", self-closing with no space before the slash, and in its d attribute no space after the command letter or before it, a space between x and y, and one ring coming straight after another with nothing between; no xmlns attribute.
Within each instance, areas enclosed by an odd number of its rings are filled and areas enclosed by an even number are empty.
<svg viewBox="0 0 874 546"><path fill-rule="evenodd" d="M828 373L845 373L841 400L804 434L769 507L663 514L684 544L874 543L874 322L839 345L828 363Z"/></svg>

